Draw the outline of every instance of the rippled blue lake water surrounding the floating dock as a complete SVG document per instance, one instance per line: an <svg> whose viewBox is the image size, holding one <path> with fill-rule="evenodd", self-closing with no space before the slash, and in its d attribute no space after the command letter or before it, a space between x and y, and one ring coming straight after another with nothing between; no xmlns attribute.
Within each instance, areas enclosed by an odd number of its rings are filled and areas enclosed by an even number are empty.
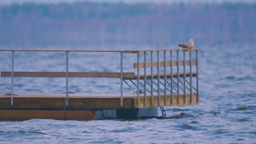
<svg viewBox="0 0 256 144"><path fill-rule="evenodd" d="M254 45L200 47L200 105L165 107L167 116L185 113L181 118L1 121L0 143L256 143ZM52 46L30 49L136 50L154 49L154 46ZM135 62L136 55L132 57L128 61ZM0 58L0 71L10 71L11 52L0 52ZM119 55L109 53L71 53L69 70L118 71L119 58ZM117 64L113 64L115 59ZM15 53L15 71L65 71L65 60L65 53L18 52ZM127 71L131 65L125 64L124 67ZM65 81L65 78L15 78L14 93L65 93ZM119 82L109 82L109 79L70 79L69 91L115 93L119 89ZM10 93L10 77L0 77L0 93Z"/></svg>

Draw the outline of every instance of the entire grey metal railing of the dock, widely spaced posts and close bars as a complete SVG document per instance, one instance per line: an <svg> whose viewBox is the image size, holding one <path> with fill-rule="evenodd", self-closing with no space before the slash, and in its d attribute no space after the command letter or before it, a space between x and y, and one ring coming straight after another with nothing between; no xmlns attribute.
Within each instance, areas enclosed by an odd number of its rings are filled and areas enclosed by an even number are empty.
<svg viewBox="0 0 256 144"><path fill-rule="evenodd" d="M14 71L14 54L15 52L65 52L66 53L66 97L65 97L65 105L68 106L68 78L69 76L69 53L70 52L117 52L120 53L120 106L123 106L123 82L126 83L127 86L129 86L132 91L134 91L137 94L137 105L139 106L139 99L140 99L140 93L144 94L144 105L147 105L147 92L150 93L150 105L153 106L154 103L154 92L157 93L158 97L158 105L160 105L160 94L161 92L164 93L164 104L166 105L167 103L167 92L170 92L171 98L170 98L170 103L173 103L173 92L177 92L177 102L179 103L179 95L180 92L179 90L181 89L183 91L183 94L186 95L186 89L190 92L190 103L192 102L192 94L193 94L193 89L196 91L197 94L197 103L199 102L199 82L198 82L198 50L201 49L167 49L167 50L138 50L138 51L100 51L100 50L1 50L1 51L11 51L12 56L11 56L11 105L14 105L13 99L14 99L14 77L15 77L15 71ZM176 57L173 56L173 51L177 51ZM180 72L179 72L179 66L181 65L179 61L179 51L183 51L183 82L180 80ZM193 86L192 83L192 52L196 52L196 88ZM153 61L153 55L156 52L156 59L157 59L157 75L155 76L153 71L154 71L154 61ZM169 60L166 58L166 52L170 52ZM185 59L185 53L189 52L189 81L186 79L187 74L186 74L186 59ZM124 72L123 72L123 54L124 53L137 53L137 76L135 77L124 77ZM144 73L143 73L143 79L141 79L140 76L140 57L141 53L144 54L144 59L143 59L143 68L144 68ZM150 53L150 57L147 56L147 53ZM164 76L162 76L162 73L160 71L160 53L163 53L164 57L164 65L161 67L164 67ZM177 66L177 71L176 74L173 73L173 61L174 58L176 58L176 66ZM147 75L147 59L149 60L149 63L151 65L150 68L150 76ZM170 73L167 74L167 62L168 62L168 67L170 67ZM46 76L42 76L46 77ZM119 76L118 76L119 77ZM177 82L175 82L173 79L176 78ZM132 85L134 85L137 89L135 91L131 84L127 82L129 80ZM141 80L144 82L142 83ZM157 83L154 81L157 80ZM164 80L162 82L161 80ZM133 82L133 81L137 81ZM148 82L150 81L150 83ZM189 88L187 87L186 83L188 83ZM173 85L175 84L175 85ZM181 87L183 85L183 89ZM140 86L142 86L144 89L141 91ZM147 86L150 87L150 89L147 89ZM157 89L154 88L154 86L157 87ZM164 90L161 88L161 86L164 87ZM168 86L168 87L167 87ZM174 90L174 91L173 91ZM184 103L186 102L186 99L184 97Z"/></svg>

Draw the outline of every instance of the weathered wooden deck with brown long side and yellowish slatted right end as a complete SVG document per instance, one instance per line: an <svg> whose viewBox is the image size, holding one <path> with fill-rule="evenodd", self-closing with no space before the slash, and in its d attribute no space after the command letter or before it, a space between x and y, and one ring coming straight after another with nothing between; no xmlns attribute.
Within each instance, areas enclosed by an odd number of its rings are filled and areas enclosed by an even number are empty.
<svg viewBox="0 0 256 144"><path fill-rule="evenodd" d="M143 107L159 106L177 106L190 105L190 94L186 95L187 103L183 103L183 95L179 97L173 95L171 104L171 95L167 94L167 104L164 105L164 95L160 96L160 105L158 105L157 95L154 95L154 104L150 106L150 97L147 95L147 105L144 104L144 94L140 95L140 105L137 105L137 95L124 95L124 106L120 107L119 94L70 94L68 106L65 106L65 94L18 94L14 95L14 105L10 106L10 95L0 94L0 110L9 109L32 109L32 110L95 110L95 109L135 109ZM196 103L196 94L193 94L191 104Z"/></svg>

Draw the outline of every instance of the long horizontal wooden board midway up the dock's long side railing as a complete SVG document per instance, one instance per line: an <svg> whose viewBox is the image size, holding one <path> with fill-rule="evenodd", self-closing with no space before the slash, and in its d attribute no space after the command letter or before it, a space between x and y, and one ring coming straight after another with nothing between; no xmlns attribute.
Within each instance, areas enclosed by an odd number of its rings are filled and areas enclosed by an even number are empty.
<svg viewBox="0 0 256 144"><path fill-rule="evenodd" d="M68 77L120 78L115 72L69 72ZM2 77L11 77L11 71L1 71ZM66 72L15 71L14 77L66 77ZM124 78L134 77L134 73L123 73Z"/></svg>

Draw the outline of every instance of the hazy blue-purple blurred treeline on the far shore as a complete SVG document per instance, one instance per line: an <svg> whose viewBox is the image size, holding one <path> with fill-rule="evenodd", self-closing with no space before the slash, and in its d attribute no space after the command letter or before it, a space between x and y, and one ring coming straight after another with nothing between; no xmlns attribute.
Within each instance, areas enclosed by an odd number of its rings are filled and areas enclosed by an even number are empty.
<svg viewBox="0 0 256 144"><path fill-rule="evenodd" d="M0 44L177 44L256 40L256 4L0 5Z"/></svg>

